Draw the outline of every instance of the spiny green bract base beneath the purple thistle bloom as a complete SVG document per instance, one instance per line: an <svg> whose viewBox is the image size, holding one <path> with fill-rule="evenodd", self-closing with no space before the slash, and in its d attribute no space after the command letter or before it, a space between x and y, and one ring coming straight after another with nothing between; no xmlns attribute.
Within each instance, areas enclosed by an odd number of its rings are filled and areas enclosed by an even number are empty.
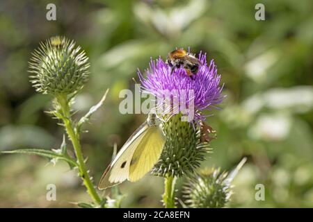
<svg viewBox="0 0 313 222"><path fill-rule="evenodd" d="M159 162L152 169L154 175L193 176L209 151L208 144L200 143L198 127L182 121L181 117L182 114L175 114L163 123L166 144Z"/></svg>

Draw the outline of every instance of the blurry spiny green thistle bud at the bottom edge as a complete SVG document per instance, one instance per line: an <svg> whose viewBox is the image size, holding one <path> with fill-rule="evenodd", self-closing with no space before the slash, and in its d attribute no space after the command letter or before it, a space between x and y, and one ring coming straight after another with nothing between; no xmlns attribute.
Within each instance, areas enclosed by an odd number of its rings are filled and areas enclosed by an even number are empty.
<svg viewBox="0 0 313 222"><path fill-rule="evenodd" d="M186 204L193 208L224 207L230 199L230 185L225 182L227 172L204 169L184 187Z"/></svg>

